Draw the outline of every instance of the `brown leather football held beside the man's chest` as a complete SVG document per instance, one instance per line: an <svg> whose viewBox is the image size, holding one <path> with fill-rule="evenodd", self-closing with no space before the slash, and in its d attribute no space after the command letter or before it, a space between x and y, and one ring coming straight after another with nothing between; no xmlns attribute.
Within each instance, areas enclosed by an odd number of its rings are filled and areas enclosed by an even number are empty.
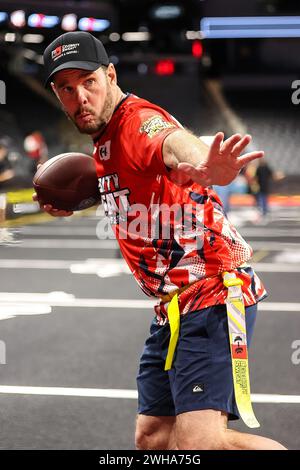
<svg viewBox="0 0 300 470"><path fill-rule="evenodd" d="M62 153L41 165L33 177L41 204L79 211L100 202L94 159L83 153Z"/></svg>

